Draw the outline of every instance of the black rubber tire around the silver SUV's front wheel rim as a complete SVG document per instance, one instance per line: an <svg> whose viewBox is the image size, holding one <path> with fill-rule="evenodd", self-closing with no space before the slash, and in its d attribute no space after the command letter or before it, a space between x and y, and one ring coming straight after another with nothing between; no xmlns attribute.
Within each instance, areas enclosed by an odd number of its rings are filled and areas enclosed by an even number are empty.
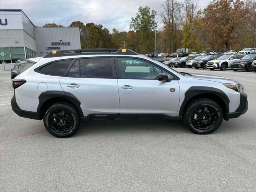
<svg viewBox="0 0 256 192"><path fill-rule="evenodd" d="M214 123L214 125L207 129L207 130L201 130L201 129L198 129L198 128L195 128L192 124L192 115L194 113L194 111L199 108L199 107L212 107L216 110L217 114L218 114L218 118L216 120L216 122ZM216 131L221 123L222 123L222 120L223 120L223 113L222 113L222 109L220 108L220 106L218 105L215 105L214 103L212 102L208 102L208 101L202 101L202 102L198 102L196 104L194 104L188 111L187 114L185 114L185 118L184 118L184 121L185 121L185 124L186 126L194 133L197 133L197 134L210 134L214 131Z"/></svg>

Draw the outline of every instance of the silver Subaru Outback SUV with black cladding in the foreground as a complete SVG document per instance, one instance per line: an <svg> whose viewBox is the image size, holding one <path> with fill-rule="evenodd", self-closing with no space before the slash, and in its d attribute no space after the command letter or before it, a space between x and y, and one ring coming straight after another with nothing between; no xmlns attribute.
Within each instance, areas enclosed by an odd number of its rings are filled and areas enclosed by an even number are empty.
<svg viewBox="0 0 256 192"><path fill-rule="evenodd" d="M234 80L177 72L128 49L54 50L12 80L12 109L44 120L56 137L72 136L80 121L134 118L184 120L209 134L247 110Z"/></svg>

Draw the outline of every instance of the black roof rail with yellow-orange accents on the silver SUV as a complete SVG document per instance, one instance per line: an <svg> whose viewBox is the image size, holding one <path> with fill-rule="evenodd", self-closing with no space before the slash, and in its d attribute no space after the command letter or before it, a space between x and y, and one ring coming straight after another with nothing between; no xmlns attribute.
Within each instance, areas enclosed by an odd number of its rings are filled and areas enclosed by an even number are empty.
<svg viewBox="0 0 256 192"><path fill-rule="evenodd" d="M130 49L76 49L76 50L52 50L43 58L64 57L76 55L138 55Z"/></svg>

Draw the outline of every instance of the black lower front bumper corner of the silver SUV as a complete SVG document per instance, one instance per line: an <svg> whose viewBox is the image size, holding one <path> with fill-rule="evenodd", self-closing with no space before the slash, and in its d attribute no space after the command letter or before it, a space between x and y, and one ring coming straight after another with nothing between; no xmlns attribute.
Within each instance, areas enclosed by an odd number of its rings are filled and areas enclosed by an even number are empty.
<svg viewBox="0 0 256 192"><path fill-rule="evenodd" d="M240 93L240 104L235 112L227 113L225 119L237 118L248 110L247 94Z"/></svg>

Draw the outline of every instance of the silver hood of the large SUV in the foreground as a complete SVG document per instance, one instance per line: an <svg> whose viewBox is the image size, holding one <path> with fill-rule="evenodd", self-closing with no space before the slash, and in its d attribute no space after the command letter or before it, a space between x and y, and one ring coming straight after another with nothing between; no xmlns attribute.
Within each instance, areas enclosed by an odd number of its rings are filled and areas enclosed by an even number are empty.
<svg viewBox="0 0 256 192"><path fill-rule="evenodd" d="M192 78L195 78L195 79L215 81L219 83L240 84L235 80L232 80L226 77L217 76L217 75L208 75L208 74L200 74L200 73L190 73L190 75L192 76Z"/></svg>

